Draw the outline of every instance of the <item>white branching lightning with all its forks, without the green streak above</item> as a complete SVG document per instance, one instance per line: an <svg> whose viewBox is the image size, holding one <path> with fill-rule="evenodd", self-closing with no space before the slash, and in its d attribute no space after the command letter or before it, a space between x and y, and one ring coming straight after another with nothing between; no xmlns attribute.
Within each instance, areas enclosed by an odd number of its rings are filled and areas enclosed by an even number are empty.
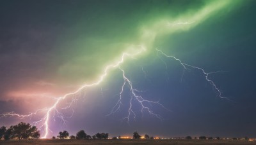
<svg viewBox="0 0 256 145"><path fill-rule="evenodd" d="M196 67L196 66L191 66L189 64L185 64L180 59L177 59L176 57L173 57L173 56L166 55L161 50L156 50L156 51L157 51L157 55L159 56L160 59L161 59L161 57L160 57L159 53L161 55L163 55L164 57L168 57L168 58L172 58L172 59L177 60L180 63L180 65L183 67L183 69L184 69L182 77L184 75L185 70L198 69L198 70L202 71L204 76L205 76L205 80L208 81L212 85L212 88L214 88L214 90L216 90L216 92L217 92L216 95L218 97L220 97L220 98L228 99L226 97L222 97L221 96L220 89L216 86L216 84L211 79L208 78L209 74L216 73L216 72L205 72L204 69L202 69L200 67ZM33 115L35 115L39 111L46 111L46 114L45 114L44 118L42 118L41 120L35 121L33 123L35 125L37 125L38 123L42 123L42 125L40 125L40 128L44 127L44 130L45 130L45 134L44 134L44 136L42 138L46 138L47 135L49 134L49 130L50 130L49 129L49 118L51 116L51 113L52 113L52 118L53 118L54 121L55 121L55 116L56 116L56 117L60 118L63 121L63 123L65 124L65 118L67 118L67 117L65 117L65 115L63 113L58 111L58 108L57 108L57 105L60 103L60 101L61 100L65 100L67 97L72 97L73 96L72 101L70 103L68 103L68 105L66 107L62 107L61 109L68 109L68 108L70 108L72 106L72 104L78 100L77 98L74 98L74 95L76 95L77 93L81 92L81 90L83 90L85 88L89 88L89 87L93 87L93 86L99 85L104 80L104 78L106 78L106 76L108 75L109 70L117 67L122 72L122 77L124 79L124 83L123 83L123 85L121 87L118 101L116 102L115 106L113 106L111 112L109 114L107 114L107 116L109 116L111 114L114 114L114 113L116 113L116 111L120 110L120 107L122 106L122 98L124 97L123 96L124 87L128 86L129 90L131 92L131 95L130 95L131 99L129 100L128 115L123 118L124 120L127 120L127 122L129 122L130 118L132 116L133 116L134 120L136 118L136 113L134 113L134 111L132 109L132 104L133 104L132 101L136 101L136 102L138 102L140 104L141 113L142 114L143 114L144 111L147 111L147 113L152 114L153 116L156 116L159 119L162 119L162 117L159 114L154 113L154 111L152 111L152 109L150 109L150 107L148 107L147 104L156 104L158 106L163 107L167 111L170 111L170 110L167 109L166 107L164 107L163 104L161 104L161 103L159 103L157 101L147 100L147 99L144 99L141 95L137 95L137 93L141 92L141 91L140 90L136 90L134 88L134 86L132 86L132 82L130 81L130 79L127 78L127 76L125 76L124 69L122 69L120 67L120 65L124 63L125 57L135 57L136 55L139 55L140 53L143 53L143 52L145 52L145 48L143 48L141 46L140 51L138 51L137 53L133 53L133 54L123 53L121 59L118 62L116 62L115 64L112 64L112 65L109 65L109 66L106 67L106 69L104 69L104 74L102 74L102 76L100 76L100 79L98 81L96 81L95 83L92 83L92 84L83 85L76 92L67 93L63 97L56 98L56 102L54 103L54 105L49 107L49 108L39 109L35 113L29 113L29 114L26 114L26 115L20 115L20 114L13 113L13 112L4 113L4 114L2 114L1 117L17 116L18 118L22 119L22 118L32 117ZM161 60L163 61L163 59L161 59ZM164 62L164 64L166 64L166 62ZM166 66L166 70L167 70L167 66ZM143 72L145 73L145 71L143 71ZM167 71L166 71L166 73L167 73ZM74 113L74 110L73 110L73 113ZM72 116L70 116L70 117L72 117Z"/></svg>

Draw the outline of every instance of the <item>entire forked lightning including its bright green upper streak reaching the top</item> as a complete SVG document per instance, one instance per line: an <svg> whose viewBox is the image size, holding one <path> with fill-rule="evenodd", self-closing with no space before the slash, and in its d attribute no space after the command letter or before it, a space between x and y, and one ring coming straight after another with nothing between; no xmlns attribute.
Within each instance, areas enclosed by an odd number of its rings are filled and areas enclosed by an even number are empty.
<svg viewBox="0 0 256 145"><path fill-rule="evenodd" d="M158 106L164 107L163 104L160 104L158 101L151 101L151 100L147 100L145 99L143 96L138 95L139 92L141 92L140 90L137 90L136 88L134 88L134 86L132 85L132 81L125 75L125 71L124 69L122 69L122 64L124 64L125 59L132 58L134 59L135 57L137 57L138 55L141 55L142 53L146 52L146 48L150 48L150 45L152 45L154 43L154 38L157 36L157 34L161 35L161 34L166 34L166 33L172 33L173 30L172 29L179 29L179 27L177 26L184 26L184 30L189 29L190 27L195 26L196 24L198 24L199 22L202 22L203 20L205 20L205 18L209 17L212 12L214 11L218 11L221 8L227 6L228 4L230 4L230 1L213 1L211 4L205 6L204 8L202 8L202 10L199 10L198 13L195 13L195 15L191 16L191 15L187 15L184 16L184 18L187 20L186 22L180 22L180 18L177 18L177 20L174 20L173 22L177 22L177 23L170 23L167 22L166 25L166 21L163 22L156 22L156 24L153 24L149 27L149 29L145 29L142 32L141 35L141 44L140 45L140 49L137 49L136 52L134 53L122 53L120 59L116 62L114 62L113 64L110 64L109 66L106 66L104 68L104 71L102 73L101 76L99 76L99 79L97 79L96 81L94 81L93 83L89 83L89 84L84 84L83 86L79 87L75 92L70 92L70 93L66 93L65 95L61 96L61 97L54 97L54 104L51 107L45 107L44 109L38 109L36 110L34 113L29 113L26 115L21 115L21 114L17 114L14 112L9 112L9 113L4 113L1 114L0 117L8 117L8 116L13 116L13 117L17 117L17 118L31 118L32 116L38 114L38 113L45 113L44 117L41 120L35 121L33 122L35 125L37 125L38 123L41 123L40 128L44 128L44 135L42 138L47 138L50 128L49 128L49 120L52 116L53 120L55 121L55 117L60 118L63 123L65 123L65 117L63 113L61 113L60 111L58 111L58 105L60 105L60 102L67 99L68 97L72 97L71 102L67 103L66 107L61 107L61 109L68 109L72 106L72 104L74 102L77 101L77 96L79 96L79 93L82 93L83 90L85 90L86 88L92 88L94 86L98 86L100 85L100 83L102 83L102 81L104 81L104 79L106 78L106 76L108 76L109 71L111 71L112 69L119 69L120 72L122 72L122 78L124 79L124 83L121 86L121 90L119 95L119 99L116 102L115 106L113 106L111 112L107 115L116 113L116 111L120 110L120 107L122 106L122 98L124 97L123 93L124 93L124 88L128 87L129 91L131 92L130 94L130 100L129 100L129 109L128 109L128 115L124 118L124 120L127 120L129 122L130 118L133 116L133 119L135 120L136 118L136 113L133 110L133 106L132 106L132 102L136 101L138 102L138 104L140 104L141 107L141 113L143 114L145 111L147 111L147 113L152 114L153 116L156 116L156 118L160 118L161 116L159 114L154 113L154 111L152 111L152 109L150 109L150 107L148 107L148 104L156 104ZM183 19L184 19L183 18ZM161 27L161 30L159 30L159 27ZM212 88L216 91L216 95L220 98L223 99L228 99L226 97L223 97L221 95L221 90L216 86L216 84L214 83L214 81L212 81L211 79L209 79L209 75L215 72L205 72L204 69L202 69L201 67L196 67L196 66L191 66L189 64L185 64L184 62L182 62L180 59L177 59L176 57L170 56L170 55L166 55L165 53L163 53L161 50L157 50L157 55L159 56L159 58L161 59L161 56L167 57L167 58L171 58L171 59L175 59L177 60L180 65L183 67L184 71L182 73L182 78L184 76L184 73L186 70L199 70L202 72L202 74L204 74L205 76L205 80L212 85ZM160 56L161 55L161 56ZM161 59L163 62L164 60ZM166 62L164 62L164 64L166 64ZM145 71L142 71L145 73ZM166 75L168 75L167 73L167 65L166 65ZM145 75L146 77L146 75ZM81 95L81 94L80 94ZM168 110L166 107L164 107L164 109ZM52 114L51 114L52 113ZM73 111L74 113L74 111ZM72 117L72 116L70 116Z"/></svg>

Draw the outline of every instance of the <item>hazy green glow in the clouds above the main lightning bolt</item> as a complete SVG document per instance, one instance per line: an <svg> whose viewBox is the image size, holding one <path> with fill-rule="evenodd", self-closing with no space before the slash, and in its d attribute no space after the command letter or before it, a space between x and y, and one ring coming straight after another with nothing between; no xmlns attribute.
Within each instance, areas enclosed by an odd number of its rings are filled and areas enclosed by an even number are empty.
<svg viewBox="0 0 256 145"><path fill-rule="evenodd" d="M160 6L152 8L147 4L140 10L116 8L116 13L104 7L102 11L88 11L76 25L68 28L67 36L59 39L56 50L62 62L58 75L69 83L77 79L79 83L92 81L99 77L104 66L115 62L123 52L134 51L142 45L147 48L147 53L152 53L157 47L157 37L188 31L207 18L227 13L235 3L237 1L198 1L184 11L173 10L174 6L167 2L166 6L170 8L163 11Z"/></svg>

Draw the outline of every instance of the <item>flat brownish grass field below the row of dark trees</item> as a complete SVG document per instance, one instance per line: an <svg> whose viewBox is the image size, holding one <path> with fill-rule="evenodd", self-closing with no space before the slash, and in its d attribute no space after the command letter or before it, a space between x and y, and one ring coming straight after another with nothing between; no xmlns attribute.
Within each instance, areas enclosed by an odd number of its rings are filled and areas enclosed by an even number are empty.
<svg viewBox="0 0 256 145"><path fill-rule="evenodd" d="M24 140L24 141L0 141L0 144L256 144L256 141L227 141L227 140L71 140L71 139L38 139L38 140Z"/></svg>

